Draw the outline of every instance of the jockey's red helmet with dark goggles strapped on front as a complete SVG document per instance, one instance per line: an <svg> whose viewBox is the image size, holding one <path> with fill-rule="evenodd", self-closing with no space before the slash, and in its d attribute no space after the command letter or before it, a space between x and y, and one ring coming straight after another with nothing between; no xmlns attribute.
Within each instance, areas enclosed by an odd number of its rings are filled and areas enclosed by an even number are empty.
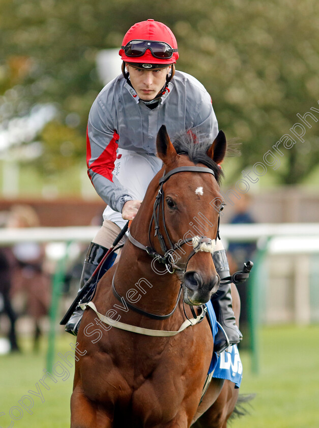
<svg viewBox="0 0 319 428"><path fill-rule="evenodd" d="M168 67L179 57L177 41L162 22L137 22L124 36L119 51L122 60L146 69Z"/></svg>

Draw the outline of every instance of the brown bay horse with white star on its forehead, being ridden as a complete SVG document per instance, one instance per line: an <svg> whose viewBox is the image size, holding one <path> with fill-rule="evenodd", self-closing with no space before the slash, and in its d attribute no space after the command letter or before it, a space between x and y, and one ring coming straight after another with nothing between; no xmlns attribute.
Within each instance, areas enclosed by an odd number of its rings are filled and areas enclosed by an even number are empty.
<svg viewBox="0 0 319 428"><path fill-rule="evenodd" d="M201 305L219 286L212 252L222 206L217 164L226 139L220 131L207 145L188 132L179 141L173 146L160 128L163 168L149 185L119 263L103 276L83 314L71 428L222 428L235 408L238 389L214 378L200 403L213 353ZM206 236L191 232L198 216ZM233 301L238 320L235 289Z"/></svg>

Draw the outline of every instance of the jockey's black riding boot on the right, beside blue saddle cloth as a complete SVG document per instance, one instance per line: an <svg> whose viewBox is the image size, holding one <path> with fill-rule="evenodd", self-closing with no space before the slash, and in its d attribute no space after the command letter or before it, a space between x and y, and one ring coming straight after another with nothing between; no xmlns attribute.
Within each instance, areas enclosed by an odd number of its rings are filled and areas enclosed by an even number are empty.
<svg viewBox="0 0 319 428"><path fill-rule="evenodd" d="M220 279L229 276L229 266L226 257L226 251L215 251L213 255L216 272ZM230 293L230 284L222 284L219 286L218 291L212 297L212 304L215 310L218 323L224 330L223 332L218 329L218 333L214 340L214 351L222 352L229 345L239 343L242 339L242 334L235 324L235 314L231 306L232 299Z"/></svg>

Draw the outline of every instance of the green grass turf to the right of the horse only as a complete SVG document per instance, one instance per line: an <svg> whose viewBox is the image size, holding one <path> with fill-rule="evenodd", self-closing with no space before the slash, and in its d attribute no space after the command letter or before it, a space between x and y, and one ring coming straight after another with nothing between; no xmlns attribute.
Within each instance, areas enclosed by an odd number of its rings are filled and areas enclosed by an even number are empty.
<svg viewBox="0 0 319 428"><path fill-rule="evenodd" d="M319 326L272 327L260 331L259 373L250 370L241 353L244 376L241 393L256 393L250 415L235 420L235 428L318 428Z"/></svg>

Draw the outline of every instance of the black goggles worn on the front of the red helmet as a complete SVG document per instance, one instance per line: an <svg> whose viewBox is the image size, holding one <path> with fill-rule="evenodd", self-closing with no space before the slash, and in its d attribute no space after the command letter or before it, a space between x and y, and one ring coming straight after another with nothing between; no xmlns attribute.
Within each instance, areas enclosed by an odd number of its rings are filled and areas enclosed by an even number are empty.
<svg viewBox="0 0 319 428"><path fill-rule="evenodd" d="M125 46L122 46L125 55L130 58L137 58L144 55L147 49L150 49L153 57L159 59L169 59L178 49L173 49L168 43L155 40L131 40Z"/></svg>

